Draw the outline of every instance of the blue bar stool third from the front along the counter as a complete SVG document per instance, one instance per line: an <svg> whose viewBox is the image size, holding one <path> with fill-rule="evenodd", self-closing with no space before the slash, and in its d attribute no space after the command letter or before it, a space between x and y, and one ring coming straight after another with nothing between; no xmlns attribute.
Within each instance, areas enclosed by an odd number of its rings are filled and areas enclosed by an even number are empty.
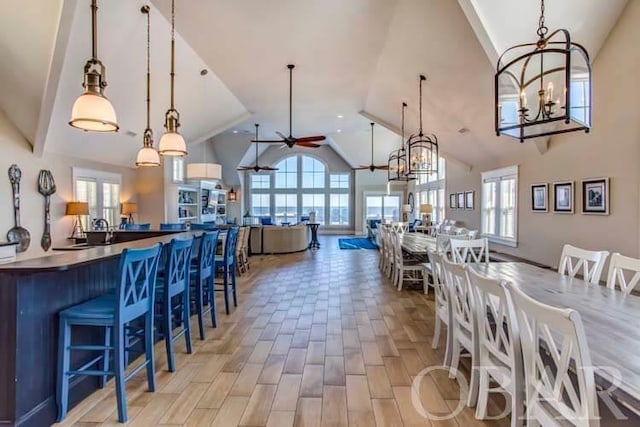
<svg viewBox="0 0 640 427"><path fill-rule="evenodd" d="M218 326L216 321L216 304L214 295L215 286L215 259L218 248L218 236L220 230L205 232L200 238L198 257L191 268L191 289L193 291L192 300L195 302L196 314L198 317L198 328L200 339L204 340L204 316L211 313L211 325ZM205 310L205 302L209 305Z"/></svg>

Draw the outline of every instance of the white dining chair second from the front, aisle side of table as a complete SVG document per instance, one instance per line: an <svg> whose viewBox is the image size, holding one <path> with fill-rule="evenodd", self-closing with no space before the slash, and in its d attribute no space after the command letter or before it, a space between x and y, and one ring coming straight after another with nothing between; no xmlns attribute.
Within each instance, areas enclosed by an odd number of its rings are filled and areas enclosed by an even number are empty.
<svg viewBox="0 0 640 427"><path fill-rule="evenodd" d="M505 281L490 279L468 269L478 320L478 405L476 418L487 418L489 393L496 382L511 401L511 425L521 426L524 415L524 372L515 310ZM508 404L508 403L507 403Z"/></svg>

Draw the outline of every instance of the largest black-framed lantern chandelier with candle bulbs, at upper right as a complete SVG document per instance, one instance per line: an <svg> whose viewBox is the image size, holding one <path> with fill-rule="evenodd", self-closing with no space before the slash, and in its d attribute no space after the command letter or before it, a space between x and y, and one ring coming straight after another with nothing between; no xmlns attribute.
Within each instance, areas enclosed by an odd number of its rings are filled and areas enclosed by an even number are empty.
<svg viewBox="0 0 640 427"><path fill-rule="evenodd" d="M565 29L547 36L541 0L538 41L507 49L495 76L496 134L525 139L591 128L591 65Z"/></svg>

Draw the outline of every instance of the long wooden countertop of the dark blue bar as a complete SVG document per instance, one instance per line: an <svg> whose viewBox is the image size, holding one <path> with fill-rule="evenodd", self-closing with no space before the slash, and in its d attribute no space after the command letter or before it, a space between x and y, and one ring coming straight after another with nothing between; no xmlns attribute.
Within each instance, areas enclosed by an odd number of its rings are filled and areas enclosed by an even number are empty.
<svg viewBox="0 0 640 427"><path fill-rule="evenodd" d="M120 256L127 248L146 248L156 243L169 243L171 239L188 239L200 236L203 231L185 231L168 234L166 236L150 237L124 243L114 243L107 246L95 246L81 251L50 252L37 258L0 264L0 273L37 273L49 271L65 271L84 264L98 262Z"/></svg>

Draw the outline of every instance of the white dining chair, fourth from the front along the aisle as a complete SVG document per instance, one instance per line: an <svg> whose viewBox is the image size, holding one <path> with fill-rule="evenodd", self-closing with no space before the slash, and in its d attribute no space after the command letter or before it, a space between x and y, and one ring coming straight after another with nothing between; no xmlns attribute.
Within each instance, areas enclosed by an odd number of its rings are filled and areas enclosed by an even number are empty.
<svg viewBox="0 0 640 427"><path fill-rule="evenodd" d="M431 264L431 277L433 278L433 287L435 291L435 324L433 327L433 340L431 348L434 350L440 344L440 332L442 324L447 327L447 342L444 353L444 366L451 365L451 304L449 297L449 288L445 280L445 274L442 266L442 255L430 250L429 262Z"/></svg>

